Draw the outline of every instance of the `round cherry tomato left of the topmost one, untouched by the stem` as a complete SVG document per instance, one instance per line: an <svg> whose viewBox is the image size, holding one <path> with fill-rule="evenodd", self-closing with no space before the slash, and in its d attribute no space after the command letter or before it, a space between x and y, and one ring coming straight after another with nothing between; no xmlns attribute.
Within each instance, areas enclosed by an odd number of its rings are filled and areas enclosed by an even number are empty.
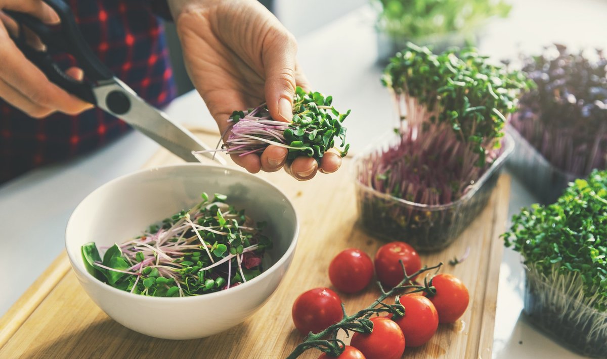
<svg viewBox="0 0 607 359"><path fill-rule="evenodd" d="M329 265L331 283L344 293L359 292L373 278L373 262L359 249L346 249L333 258Z"/></svg>

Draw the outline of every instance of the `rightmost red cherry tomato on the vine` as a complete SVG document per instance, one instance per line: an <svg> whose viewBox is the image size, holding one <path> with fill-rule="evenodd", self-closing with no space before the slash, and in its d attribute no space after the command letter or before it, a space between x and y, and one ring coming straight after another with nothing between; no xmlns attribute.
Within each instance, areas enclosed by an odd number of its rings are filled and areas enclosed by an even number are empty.
<svg viewBox="0 0 607 359"><path fill-rule="evenodd" d="M453 275L441 273L432 278L432 285L436 288L436 295L428 296L438 312L439 323L453 323L461 317L470 297L468 289Z"/></svg>

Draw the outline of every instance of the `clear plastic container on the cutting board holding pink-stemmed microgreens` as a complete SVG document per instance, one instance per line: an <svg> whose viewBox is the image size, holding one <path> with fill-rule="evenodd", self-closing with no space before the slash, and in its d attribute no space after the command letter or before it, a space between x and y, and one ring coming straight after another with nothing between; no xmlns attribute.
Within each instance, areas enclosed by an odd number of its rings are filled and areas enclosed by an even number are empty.
<svg viewBox="0 0 607 359"><path fill-rule="evenodd" d="M360 181L362 171L367 170L365 164L375 161L383 150L398 140L398 136L392 134L392 140L381 141L383 146L370 148L354 159L359 222L368 233L383 240L405 241L421 252L443 249L486 206L501 167L514 150L514 141L505 136L501 155L459 200L429 206L379 192Z"/></svg>

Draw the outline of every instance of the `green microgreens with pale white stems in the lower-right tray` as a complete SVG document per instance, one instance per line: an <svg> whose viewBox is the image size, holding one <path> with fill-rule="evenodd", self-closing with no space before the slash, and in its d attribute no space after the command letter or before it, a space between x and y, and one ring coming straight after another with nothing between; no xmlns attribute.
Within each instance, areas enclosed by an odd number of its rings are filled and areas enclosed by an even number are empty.
<svg viewBox="0 0 607 359"><path fill-rule="evenodd" d="M575 180L557 203L522 209L503 237L528 269L531 315L547 313L540 318L544 327L605 354L607 171Z"/></svg>

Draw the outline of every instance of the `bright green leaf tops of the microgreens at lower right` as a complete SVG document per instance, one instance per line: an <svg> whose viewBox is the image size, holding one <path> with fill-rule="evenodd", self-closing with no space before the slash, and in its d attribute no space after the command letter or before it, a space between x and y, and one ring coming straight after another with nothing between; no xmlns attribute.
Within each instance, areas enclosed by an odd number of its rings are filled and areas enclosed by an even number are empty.
<svg viewBox="0 0 607 359"><path fill-rule="evenodd" d="M547 277L579 273L585 295L602 298L592 305L607 310L607 171L575 180L557 203L522 209L503 238Z"/></svg>

